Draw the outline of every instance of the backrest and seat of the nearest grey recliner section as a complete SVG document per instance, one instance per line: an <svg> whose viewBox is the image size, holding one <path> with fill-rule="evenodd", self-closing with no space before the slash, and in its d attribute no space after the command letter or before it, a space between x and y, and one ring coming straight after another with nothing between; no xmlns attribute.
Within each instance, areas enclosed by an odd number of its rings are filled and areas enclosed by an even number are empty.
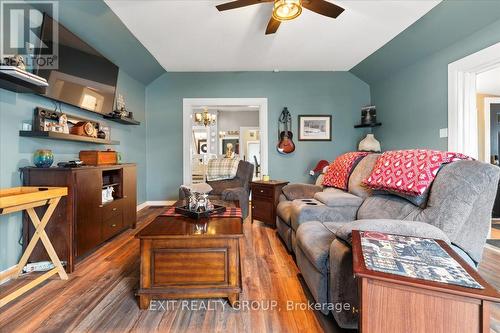
<svg viewBox="0 0 500 333"><path fill-rule="evenodd" d="M474 261L481 260L491 224L500 168L478 161L447 164L437 174L422 209L395 195L373 195L358 219L421 221L443 230Z"/></svg>

